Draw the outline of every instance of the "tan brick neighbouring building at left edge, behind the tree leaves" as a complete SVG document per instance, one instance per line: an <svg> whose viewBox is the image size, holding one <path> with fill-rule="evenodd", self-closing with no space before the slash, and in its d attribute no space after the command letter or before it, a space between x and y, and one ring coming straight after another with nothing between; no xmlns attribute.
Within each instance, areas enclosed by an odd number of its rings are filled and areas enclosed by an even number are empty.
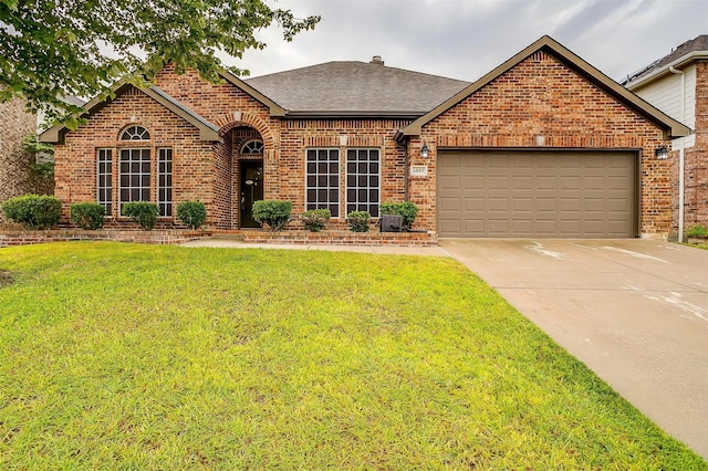
<svg viewBox="0 0 708 471"><path fill-rule="evenodd" d="M34 156L22 149L22 139L32 133L37 116L27 112L23 101L0 103L0 203L21 195L53 192L53 180L32 172Z"/></svg>

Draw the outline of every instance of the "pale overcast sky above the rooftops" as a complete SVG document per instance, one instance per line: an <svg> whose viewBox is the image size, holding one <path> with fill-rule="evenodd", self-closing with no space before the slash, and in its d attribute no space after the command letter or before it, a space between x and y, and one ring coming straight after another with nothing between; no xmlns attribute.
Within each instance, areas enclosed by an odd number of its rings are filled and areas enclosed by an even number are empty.
<svg viewBox="0 0 708 471"><path fill-rule="evenodd" d="M288 43L262 31L263 51L229 65L251 76L330 61L368 62L473 82L544 34L621 81L708 34L708 0L279 0L322 15Z"/></svg>

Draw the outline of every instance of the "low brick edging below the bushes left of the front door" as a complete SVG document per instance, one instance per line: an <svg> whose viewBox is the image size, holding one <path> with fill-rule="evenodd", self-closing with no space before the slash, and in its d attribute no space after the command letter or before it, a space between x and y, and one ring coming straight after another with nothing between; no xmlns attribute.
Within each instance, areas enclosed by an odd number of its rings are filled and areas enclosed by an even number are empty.
<svg viewBox="0 0 708 471"><path fill-rule="evenodd" d="M2 230L0 231L0 248L12 245L31 245L34 243L70 242L77 240L177 244L201 239L205 236L209 236L209 233L204 231L179 229L156 231L85 231L81 229L52 229L46 231Z"/></svg>

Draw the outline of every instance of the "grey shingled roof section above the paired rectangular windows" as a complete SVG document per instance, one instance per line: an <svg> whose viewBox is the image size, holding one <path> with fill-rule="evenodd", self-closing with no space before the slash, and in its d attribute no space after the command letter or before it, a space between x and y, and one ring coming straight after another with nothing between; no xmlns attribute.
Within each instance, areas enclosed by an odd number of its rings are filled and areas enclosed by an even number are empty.
<svg viewBox="0 0 708 471"><path fill-rule="evenodd" d="M418 117L469 82L371 63L327 62L244 82L289 116Z"/></svg>

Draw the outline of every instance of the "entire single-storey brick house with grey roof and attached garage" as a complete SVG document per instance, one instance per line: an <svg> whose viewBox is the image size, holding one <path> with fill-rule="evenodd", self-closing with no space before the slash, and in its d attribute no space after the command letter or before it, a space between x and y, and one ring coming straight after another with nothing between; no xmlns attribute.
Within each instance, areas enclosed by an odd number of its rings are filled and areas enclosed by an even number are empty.
<svg viewBox="0 0 708 471"><path fill-rule="evenodd" d="M475 83L331 62L209 84L167 65L115 86L56 143L56 196L119 207L201 200L216 229L257 226L253 200L378 214L410 200L441 237L666 237L670 166L689 129L543 36ZM64 218L67 211L65 210ZM293 221L292 227L300 227Z"/></svg>

